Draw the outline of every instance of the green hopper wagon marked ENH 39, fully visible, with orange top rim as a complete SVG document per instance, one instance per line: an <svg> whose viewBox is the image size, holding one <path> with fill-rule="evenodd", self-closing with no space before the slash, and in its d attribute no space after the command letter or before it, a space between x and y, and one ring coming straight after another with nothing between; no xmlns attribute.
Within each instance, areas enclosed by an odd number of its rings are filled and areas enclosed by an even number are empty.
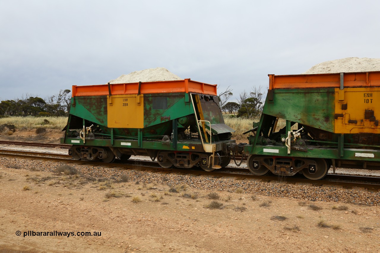
<svg viewBox="0 0 380 253"><path fill-rule="evenodd" d="M61 143L74 159L112 162L131 155L206 171L230 163L234 130L224 124L216 85L190 79L73 86Z"/></svg>

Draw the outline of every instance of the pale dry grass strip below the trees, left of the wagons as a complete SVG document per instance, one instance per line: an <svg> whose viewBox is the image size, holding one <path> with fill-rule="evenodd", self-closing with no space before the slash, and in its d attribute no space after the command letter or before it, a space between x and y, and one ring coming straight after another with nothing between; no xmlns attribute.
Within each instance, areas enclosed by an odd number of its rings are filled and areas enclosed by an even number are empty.
<svg viewBox="0 0 380 253"><path fill-rule="evenodd" d="M44 121L48 119L48 124ZM14 125L17 129L35 129L41 126L46 127L47 129L58 129L62 130L67 124L67 117L6 117L0 118L0 125L10 124Z"/></svg>

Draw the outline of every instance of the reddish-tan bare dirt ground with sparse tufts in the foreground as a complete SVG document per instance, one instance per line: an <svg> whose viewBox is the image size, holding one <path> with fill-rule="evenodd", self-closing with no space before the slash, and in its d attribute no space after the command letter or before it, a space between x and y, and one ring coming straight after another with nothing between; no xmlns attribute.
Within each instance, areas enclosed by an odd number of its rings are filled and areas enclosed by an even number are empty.
<svg viewBox="0 0 380 253"><path fill-rule="evenodd" d="M56 141L53 132L38 138ZM169 190L0 164L0 251L380 252L380 207L190 187ZM209 193L217 193L220 209L207 207L213 201Z"/></svg>

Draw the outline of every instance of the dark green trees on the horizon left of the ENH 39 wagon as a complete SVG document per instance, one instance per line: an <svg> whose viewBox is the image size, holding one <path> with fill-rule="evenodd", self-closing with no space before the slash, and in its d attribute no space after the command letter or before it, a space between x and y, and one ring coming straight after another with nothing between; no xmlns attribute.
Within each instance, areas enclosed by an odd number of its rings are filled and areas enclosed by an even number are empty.
<svg viewBox="0 0 380 253"><path fill-rule="evenodd" d="M71 90L60 90L45 99L23 95L22 98L0 103L0 116L67 116L71 104Z"/></svg>

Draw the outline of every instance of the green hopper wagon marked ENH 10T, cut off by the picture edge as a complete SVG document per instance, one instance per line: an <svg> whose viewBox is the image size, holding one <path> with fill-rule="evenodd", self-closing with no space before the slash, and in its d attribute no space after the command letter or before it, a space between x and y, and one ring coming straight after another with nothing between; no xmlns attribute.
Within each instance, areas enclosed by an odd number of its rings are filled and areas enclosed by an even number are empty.
<svg viewBox="0 0 380 253"><path fill-rule="evenodd" d="M380 169L379 119L380 72L271 74L263 114L244 146L247 165L256 175L315 180L331 166Z"/></svg>

